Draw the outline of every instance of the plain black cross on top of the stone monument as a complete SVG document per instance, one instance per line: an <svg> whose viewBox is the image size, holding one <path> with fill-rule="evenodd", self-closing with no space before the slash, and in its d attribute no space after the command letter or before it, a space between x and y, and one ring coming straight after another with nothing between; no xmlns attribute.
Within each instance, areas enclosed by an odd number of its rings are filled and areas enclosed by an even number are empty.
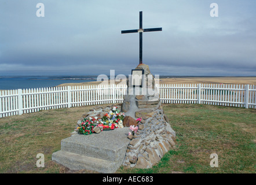
<svg viewBox="0 0 256 185"><path fill-rule="evenodd" d="M140 64L142 64L142 32L149 32L149 31L162 31L162 28L142 28L142 11L140 12L140 29L130 29L130 30L123 30L121 31L122 34L129 34L129 33L140 33Z"/></svg>

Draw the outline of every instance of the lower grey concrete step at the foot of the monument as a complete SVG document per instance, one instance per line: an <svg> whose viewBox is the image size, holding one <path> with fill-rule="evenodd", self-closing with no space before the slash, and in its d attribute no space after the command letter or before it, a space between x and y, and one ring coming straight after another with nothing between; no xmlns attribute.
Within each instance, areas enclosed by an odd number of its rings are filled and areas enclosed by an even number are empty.
<svg viewBox="0 0 256 185"><path fill-rule="evenodd" d="M52 160L71 170L87 169L100 173L115 173L121 164L99 158L82 156L80 154L59 150L53 153Z"/></svg>

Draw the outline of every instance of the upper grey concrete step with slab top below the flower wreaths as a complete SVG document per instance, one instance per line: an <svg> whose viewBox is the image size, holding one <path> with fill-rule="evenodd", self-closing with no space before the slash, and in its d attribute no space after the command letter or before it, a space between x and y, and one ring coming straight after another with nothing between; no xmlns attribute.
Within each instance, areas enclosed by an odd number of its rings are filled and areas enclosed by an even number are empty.
<svg viewBox="0 0 256 185"><path fill-rule="evenodd" d="M116 128L102 131L99 134L75 134L61 140L61 150L82 156L99 158L108 161L120 161L125 158L130 139L127 138L129 128Z"/></svg>

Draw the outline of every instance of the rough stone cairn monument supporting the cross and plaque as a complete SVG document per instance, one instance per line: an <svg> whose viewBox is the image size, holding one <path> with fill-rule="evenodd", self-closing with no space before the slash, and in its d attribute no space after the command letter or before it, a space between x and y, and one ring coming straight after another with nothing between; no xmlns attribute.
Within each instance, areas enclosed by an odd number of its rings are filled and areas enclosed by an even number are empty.
<svg viewBox="0 0 256 185"><path fill-rule="evenodd" d="M131 137L128 136L131 141L127 147L123 165L127 168L151 168L171 147L175 146L175 131L171 128L168 118L163 112L159 94L149 94L148 91L142 94L143 88L155 90L155 80L148 78L151 75L148 65L140 64L136 69L144 69L145 75L146 86L138 87L140 94L136 94L136 87L127 88L127 94L122 104L96 106L90 112L83 114L82 118L78 120L78 125L87 117L103 117L113 106L118 106L118 108L122 106L121 112L125 113L123 125L125 127L138 126L137 132ZM129 87L129 80L127 80L127 85ZM133 93L129 91L133 91ZM141 118L139 125L136 121L138 118Z"/></svg>

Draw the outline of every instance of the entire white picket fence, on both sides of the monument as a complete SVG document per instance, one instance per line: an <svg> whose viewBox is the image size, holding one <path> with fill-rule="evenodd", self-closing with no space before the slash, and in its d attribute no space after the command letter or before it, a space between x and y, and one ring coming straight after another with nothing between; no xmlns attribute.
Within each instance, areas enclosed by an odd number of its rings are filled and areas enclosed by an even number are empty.
<svg viewBox="0 0 256 185"><path fill-rule="evenodd" d="M74 106L122 103L126 85L74 86L0 91L0 117ZM162 103L204 103L256 108L255 85L160 84Z"/></svg>

